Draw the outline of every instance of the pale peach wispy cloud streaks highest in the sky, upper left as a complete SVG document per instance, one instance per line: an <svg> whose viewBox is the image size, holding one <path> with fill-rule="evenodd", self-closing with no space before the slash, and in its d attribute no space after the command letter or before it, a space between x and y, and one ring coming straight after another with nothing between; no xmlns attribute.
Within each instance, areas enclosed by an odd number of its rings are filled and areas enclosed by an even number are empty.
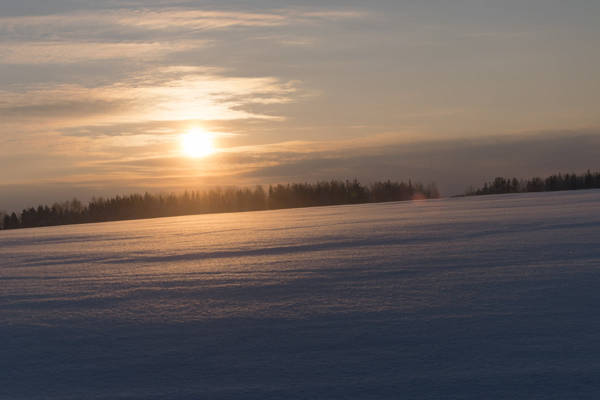
<svg viewBox="0 0 600 400"><path fill-rule="evenodd" d="M270 13L191 8L77 11L47 16L0 17L0 64L72 64L100 59L149 61L206 46L202 32L306 25L358 17L348 12ZM302 39L284 35L280 43Z"/></svg>

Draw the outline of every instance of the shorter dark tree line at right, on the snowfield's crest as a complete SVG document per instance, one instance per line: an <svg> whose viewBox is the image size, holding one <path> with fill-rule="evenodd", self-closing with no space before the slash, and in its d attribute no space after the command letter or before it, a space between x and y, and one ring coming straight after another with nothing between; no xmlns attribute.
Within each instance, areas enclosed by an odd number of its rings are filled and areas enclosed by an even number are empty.
<svg viewBox="0 0 600 400"><path fill-rule="evenodd" d="M542 179L539 176L531 179L503 178L498 176L494 181L485 182L483 187L473 190L469 188L461 196L481 196L484 194L551 192L559 190L599 189L600 171L577 175L559 173Z"/></svg>

